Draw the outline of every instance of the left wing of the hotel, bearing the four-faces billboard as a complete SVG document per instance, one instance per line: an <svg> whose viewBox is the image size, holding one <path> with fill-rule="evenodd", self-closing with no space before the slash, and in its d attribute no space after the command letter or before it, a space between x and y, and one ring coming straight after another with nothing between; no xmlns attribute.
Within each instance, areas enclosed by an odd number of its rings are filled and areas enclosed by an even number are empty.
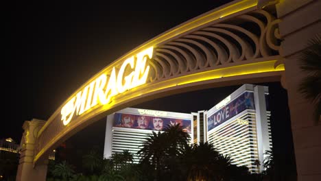
<svg viewBox="0 0 321 181"><path fill-rule="evenodd" d="M142 117L145 119L145 123L142 120L141 123L143 125L139 125L139 120ZM127 149L133 154L134 162L139 162L136 153L141 149L140 146L145 141L145 138L150 136L153 131L158 132L157 129L163 130L167 125L173 123L180 123L191 136L192 142L192 120L192 114L138 108L125 108L110 114L106 121L104 158Z"/></svg>

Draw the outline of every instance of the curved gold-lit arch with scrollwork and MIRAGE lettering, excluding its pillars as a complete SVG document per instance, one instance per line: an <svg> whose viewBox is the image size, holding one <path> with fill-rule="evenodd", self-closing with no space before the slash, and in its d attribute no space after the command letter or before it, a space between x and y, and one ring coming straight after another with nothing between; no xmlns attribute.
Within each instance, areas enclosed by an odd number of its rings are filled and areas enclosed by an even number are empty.
<svg viewBox="0 0 321 181"><path fill-rule="evenodd" d="M280 81L279 20L273 4L258 1L233 1L206 12L109 64L40 129L34 165L75 132L122 108L191 90Z"/></svg>

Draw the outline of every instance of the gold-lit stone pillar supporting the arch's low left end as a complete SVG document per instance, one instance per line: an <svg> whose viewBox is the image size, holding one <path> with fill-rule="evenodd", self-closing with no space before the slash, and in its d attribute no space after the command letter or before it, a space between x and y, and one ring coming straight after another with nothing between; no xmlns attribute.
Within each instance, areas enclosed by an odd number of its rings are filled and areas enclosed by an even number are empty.
<svg viewBox="0 0 321 181"><path fill-rule="evenodd" d="M36 138L40 128L45 125L45 121L32 119L23 123L23 137L21 138L21 155L19 167L16 173L16 181L45 181L47 176L47 159L40 160L34 167L34 149L36 148Z"/></svg>

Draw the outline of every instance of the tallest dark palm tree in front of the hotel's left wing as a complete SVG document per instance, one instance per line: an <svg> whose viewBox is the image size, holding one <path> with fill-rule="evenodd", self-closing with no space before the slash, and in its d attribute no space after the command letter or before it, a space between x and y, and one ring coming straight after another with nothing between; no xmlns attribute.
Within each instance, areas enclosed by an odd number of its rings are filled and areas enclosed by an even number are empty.
<svg viewBox="0 0 321 181"><path fill-rule="evenodd" d="M189 143L190 136L183 131L180 124L169 125L163 133L153 132L150 137L143 142L138 155L140 163L154 167L156 178L162 176L163 179L181 177L181 167L179 155L181 148ZM160 174L161 173L161 174Z"/></svg>

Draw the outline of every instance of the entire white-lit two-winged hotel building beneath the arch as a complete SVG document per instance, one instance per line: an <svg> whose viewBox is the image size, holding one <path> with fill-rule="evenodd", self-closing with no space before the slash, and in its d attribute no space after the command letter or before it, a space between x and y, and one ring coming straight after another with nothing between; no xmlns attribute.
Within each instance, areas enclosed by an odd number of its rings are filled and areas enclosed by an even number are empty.
<svg viewBox="0 0 321 181"><path fill-rule="evenodd" d="M134 162L138 162L136 152L156 130L152 119L161 118L163 126L179 122L187 128L191 143L213 143L219 153L231 156L233 164L246 166L252 173L258 171L254 162L259 160L262 171L263 153L272 147L266 95L267 86L244 84L210 110L190 114L139 108L120 110L107 117L104 157L128 149ZM143 127L137 123L141 116L147 119Z"/></svg>

